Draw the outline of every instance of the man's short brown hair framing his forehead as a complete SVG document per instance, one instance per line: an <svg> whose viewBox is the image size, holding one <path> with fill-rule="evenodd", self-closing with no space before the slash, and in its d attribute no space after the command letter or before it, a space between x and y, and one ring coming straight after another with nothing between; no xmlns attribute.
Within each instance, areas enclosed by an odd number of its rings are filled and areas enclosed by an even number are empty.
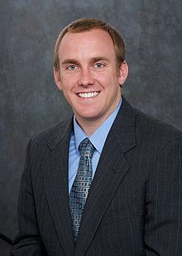
<svg viewBox="0 0 182 256"><path fill-rule="evenodd" d="M71 22L68 26L66 26L61 32L59 37L57 38L57 41L55 43L55 56L54 56L54 67L59 70L60 68L60 62L59 62L59 56L58 56L58 50L60 47L60 42L65 36L67 32L85 32L92 30L93 28L100 28L104 31L108 32L110 37L113 40L113 45L116 52L116 58L117 58L117 68L119 70L122 62L125 60L125 44L122 39L122 36L117 30L111 26L108 22L103 22L98 19L94 18L80 18L74 22Z"/></svg>

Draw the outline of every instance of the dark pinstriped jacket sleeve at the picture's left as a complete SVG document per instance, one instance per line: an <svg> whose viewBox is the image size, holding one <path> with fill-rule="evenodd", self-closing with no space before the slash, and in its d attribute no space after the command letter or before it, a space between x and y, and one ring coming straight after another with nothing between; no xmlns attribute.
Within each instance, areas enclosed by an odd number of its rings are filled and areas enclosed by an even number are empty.
<svg viewBox="0 0 182 256"><path fill-rule="evenodd" d="M26 150L25 169L22 174L18 200L18 231L12 244L12 256L46 256L45 247L36 220L36 207L31 187L31 161L29 143Z"/></svg>

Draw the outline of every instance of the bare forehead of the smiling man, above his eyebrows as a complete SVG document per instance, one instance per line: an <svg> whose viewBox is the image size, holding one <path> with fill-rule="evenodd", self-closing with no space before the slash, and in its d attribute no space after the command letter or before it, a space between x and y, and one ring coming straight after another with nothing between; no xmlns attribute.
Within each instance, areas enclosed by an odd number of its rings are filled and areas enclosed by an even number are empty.
<svg viewBox="0 0 182 256"><path fill-rule="evenodd" d="M82 49L89 54L94 52L115 52L113 39L108 32L100 28L93 28L84 32L67 32L59 47L59 56L65 52L76 52ZM80 54L80 52L79 52Z"/></svg>

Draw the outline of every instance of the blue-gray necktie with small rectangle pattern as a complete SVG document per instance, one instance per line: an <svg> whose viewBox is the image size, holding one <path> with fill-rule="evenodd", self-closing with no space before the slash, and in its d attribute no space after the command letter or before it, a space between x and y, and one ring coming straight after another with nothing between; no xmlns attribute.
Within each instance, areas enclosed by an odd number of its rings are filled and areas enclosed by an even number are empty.
<svg viewBox="0 0 182 256"><path fill-rule="evenodd" d="M79 169L69 194L69 208L71 213L74 241L79 234L79 225L92 183L92 157L95 150L88 138L82 140L79 145L80 160Z"/></svg>

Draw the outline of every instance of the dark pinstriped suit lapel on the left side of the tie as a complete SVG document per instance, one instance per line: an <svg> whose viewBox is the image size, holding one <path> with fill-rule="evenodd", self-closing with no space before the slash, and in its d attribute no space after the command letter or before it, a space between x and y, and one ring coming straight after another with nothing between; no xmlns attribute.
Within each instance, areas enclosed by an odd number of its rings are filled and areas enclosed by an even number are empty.
<svg viewBox="0 0 182 256"><path fill-rule="evenodd" d="M50 152L42 162L42 176L50 213L60 244L66 255L74 254L74 239L69 214L68 153L71 124L49 143Z"/></svg>

